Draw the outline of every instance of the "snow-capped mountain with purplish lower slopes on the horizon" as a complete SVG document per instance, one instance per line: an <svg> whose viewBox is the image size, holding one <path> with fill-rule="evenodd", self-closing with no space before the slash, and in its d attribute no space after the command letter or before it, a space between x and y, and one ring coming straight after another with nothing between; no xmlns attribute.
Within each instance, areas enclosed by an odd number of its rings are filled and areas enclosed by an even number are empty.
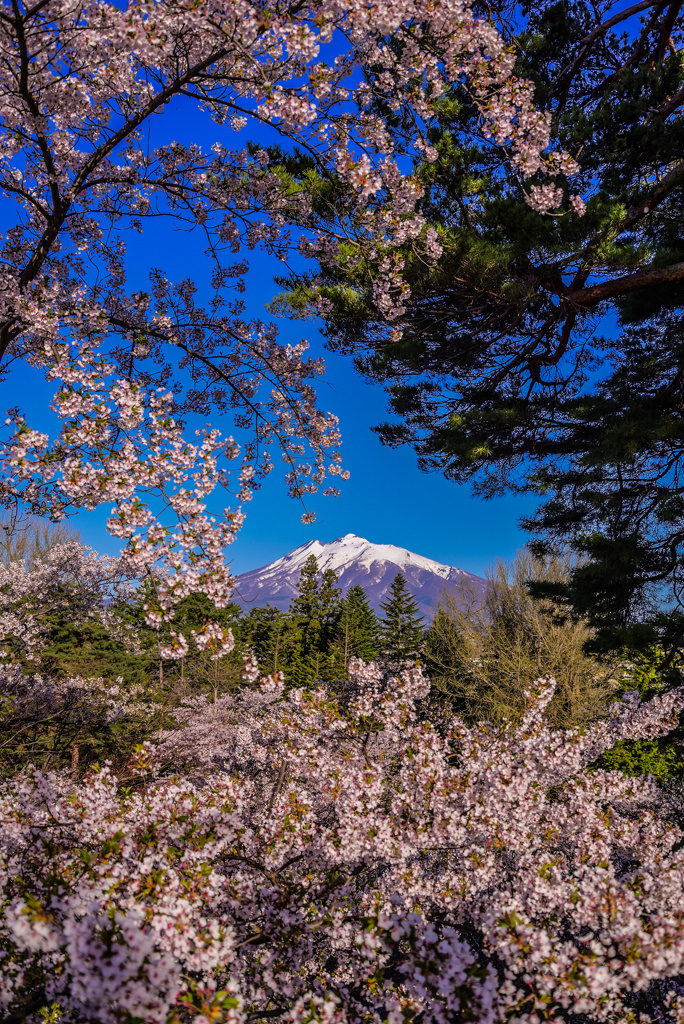
<svg viewBox="0 0 684 1024"><path fill-rule="evenodd" d="M299 573L309 555L316 556L322 572L334 569L343 594L354 584L360 584L376 611L397 572L405 577L409 590L427 618L434 615L442 591L465 585L470 593L481 597L486 588L484 580L465 569L442 565L392 544L371 544L362 537L347 534L329 544L309 541L270 565L245 572L238 580L233 599L246 608L271 604L287 610L290 599L297 594Z"/></svg>

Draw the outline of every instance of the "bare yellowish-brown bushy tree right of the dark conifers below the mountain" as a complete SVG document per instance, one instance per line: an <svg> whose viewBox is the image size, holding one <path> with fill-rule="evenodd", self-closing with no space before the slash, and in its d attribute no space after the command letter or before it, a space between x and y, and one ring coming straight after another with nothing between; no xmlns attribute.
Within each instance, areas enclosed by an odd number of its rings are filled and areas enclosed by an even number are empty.
<svg viewBox="0 0 684 1024"><path fill-rule="evenodd" d="M586 622L562 616L548 599L530 597L530 581L562 581L572 561L518 554L487 573L484 601L467 589L445 593L425 636L424 657L433 694L465 720L519 721L525 694L551 675L556 691L546 710L554 728L584 728L608 714L618 692L618 658L585 650Z"/></svg>

